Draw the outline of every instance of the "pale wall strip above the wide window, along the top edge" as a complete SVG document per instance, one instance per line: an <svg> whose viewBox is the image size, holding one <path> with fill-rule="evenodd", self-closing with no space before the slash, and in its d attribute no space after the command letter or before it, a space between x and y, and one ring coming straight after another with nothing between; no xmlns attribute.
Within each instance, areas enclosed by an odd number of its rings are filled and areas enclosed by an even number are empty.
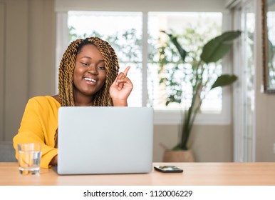
<svg viewBox="0 0 275 200"><path fill-rule="evenodd" d="M56 0L56 11L224 11L227 0Z"/></svg>

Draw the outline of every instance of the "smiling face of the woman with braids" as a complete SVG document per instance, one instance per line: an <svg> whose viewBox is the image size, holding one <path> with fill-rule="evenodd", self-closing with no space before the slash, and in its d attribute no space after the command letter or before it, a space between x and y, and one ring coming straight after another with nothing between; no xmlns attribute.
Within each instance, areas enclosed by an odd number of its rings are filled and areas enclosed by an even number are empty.
<svg viewBox="0 0 275 200"><path fill-rule="evenodd" d="M105 63L102 54L93 44L82 47L76 56L73 71L74 95L93 96L106 79Z"/></svg>

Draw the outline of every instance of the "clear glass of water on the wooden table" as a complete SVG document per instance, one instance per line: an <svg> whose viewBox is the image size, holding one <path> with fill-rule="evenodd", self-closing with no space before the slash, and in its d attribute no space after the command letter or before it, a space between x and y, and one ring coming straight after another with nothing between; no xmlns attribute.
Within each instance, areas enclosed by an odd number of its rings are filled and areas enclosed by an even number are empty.
<svg viewBox="0 0 275 200"><path fill-rule="evenodd" d="M39 174L41 144L18 144L17 147L20 174Z"/></svg>

